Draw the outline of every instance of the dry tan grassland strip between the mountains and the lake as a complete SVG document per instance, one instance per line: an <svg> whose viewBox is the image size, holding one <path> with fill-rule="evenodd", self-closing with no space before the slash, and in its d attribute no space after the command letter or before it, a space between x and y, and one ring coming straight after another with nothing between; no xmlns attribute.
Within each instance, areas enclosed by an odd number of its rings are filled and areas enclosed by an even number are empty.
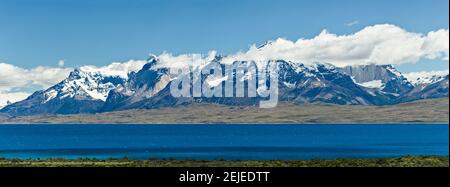
<svg viewBox="0 0 450 187"><path fill-rule="evenodd" d="M276 108L194 104L100 114L1 117L0 124L33 123L429 123L449 121L449 99L388 106L280 103Z"/></svg>

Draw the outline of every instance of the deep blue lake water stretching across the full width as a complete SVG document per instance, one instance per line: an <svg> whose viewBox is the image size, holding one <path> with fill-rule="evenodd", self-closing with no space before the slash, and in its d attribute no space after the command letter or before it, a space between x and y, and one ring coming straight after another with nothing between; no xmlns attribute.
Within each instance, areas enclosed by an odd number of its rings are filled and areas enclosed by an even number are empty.
<svg viewBox="0 0 450 187"><path fill-rule="evenodd" d="M0 125L3 158L292 160L448 155L448 125Z"/></svg>

